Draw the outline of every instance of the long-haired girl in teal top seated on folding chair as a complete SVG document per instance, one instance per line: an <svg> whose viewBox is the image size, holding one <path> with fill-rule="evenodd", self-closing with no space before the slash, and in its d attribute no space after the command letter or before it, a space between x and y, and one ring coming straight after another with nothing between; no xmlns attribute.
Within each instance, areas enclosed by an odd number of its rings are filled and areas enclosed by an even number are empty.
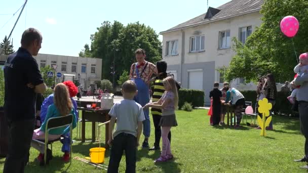
<svg viewBox="0 0 308 173"><path fill-rule="evenodd" d="M73 115L72 127L75 128L77 125L76 115L74 113L74 108L69 98L68 89L65 84L59 83L54 88L54 104L48 107L47 116L42 126L34 130L32 139L45 140L45 129L48 119L66 116L68 114ZM67 134L68 132L69 126L51 129L49 131L48 140L52 141L58 139L61 135ZM31 146L40 151L40 155L38 155L37 160L40 162L40 165L44 165L45 146L35 141L31 142ZM50 159L52 159L51 150L47 149L46 163L49 163Z"/></svg>

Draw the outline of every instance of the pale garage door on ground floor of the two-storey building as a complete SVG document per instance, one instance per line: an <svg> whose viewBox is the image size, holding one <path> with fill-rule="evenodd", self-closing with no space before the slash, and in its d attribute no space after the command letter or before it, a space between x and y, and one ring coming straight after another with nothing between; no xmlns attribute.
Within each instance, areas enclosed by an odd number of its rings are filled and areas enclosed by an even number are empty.
<svg viewBox="0 0 308 173"><path fill-rule="evenodd" d="M188 71L188 88L194 90L203 90L203 71Z"/></svg>

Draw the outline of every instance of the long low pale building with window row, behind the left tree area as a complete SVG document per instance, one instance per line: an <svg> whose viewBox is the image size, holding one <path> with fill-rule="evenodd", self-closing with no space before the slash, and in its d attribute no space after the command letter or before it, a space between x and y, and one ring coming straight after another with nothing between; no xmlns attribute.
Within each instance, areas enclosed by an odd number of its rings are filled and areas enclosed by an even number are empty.
<svg viewBox="0 0 308 173"><path fill-rule="evenodd" d="M96 88L95 81L101 80L102 59L50 54L38 54L34 58L40 68L56 66L56 74L61 73L61 77L56 77L57 83L63 81L64 75L74 75L73 79L86 89L90 85Z"/></svg>

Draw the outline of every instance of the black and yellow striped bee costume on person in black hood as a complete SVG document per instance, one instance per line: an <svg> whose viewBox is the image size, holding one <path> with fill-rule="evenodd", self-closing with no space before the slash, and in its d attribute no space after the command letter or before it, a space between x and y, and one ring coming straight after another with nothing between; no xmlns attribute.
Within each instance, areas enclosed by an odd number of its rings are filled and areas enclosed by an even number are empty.
<svg viewBox="0 0 308 173"><path fill-rule="evenodd" d="M152 102L157 102L163 96L165 89L163 79L156 79L154 82L154 91L152 96ZM162 109L151 108L152 115L162 115Z"/></svg>

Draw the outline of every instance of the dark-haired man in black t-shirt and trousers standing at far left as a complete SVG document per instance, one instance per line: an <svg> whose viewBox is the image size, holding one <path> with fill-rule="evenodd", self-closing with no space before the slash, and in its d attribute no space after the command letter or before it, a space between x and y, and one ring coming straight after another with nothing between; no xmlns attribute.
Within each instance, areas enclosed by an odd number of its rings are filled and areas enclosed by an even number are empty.
<svg viewBox="0 0 308 173"><path fill-rule="evenodd" d="M21 48L5 63L5 116L9 126L9 152L4 173L24 172L34 130L36 94L43 94L46 85L36 60L41 49L40 31L29 28L21 38Z"/></svg>

